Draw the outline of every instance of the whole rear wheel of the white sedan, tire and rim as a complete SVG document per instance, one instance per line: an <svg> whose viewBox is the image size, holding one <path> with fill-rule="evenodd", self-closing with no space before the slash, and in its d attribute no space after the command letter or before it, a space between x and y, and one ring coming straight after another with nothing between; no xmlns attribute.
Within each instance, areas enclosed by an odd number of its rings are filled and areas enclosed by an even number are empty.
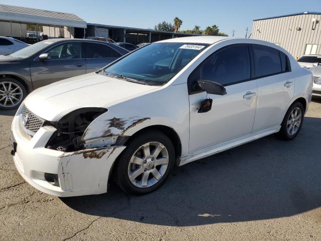
<svg viewBox="0 0 321 241"><path fill-rule="evenodd" d="M296 112L297 111L297 112ZM298 117L300 114L300 117ZM294 119L293 117L296 116ZM287 110L278 132L278 137L290 141L300 132L304 119L304 107L300 102L294 102ZM292 127L292 128L291 128Z"/></svg>

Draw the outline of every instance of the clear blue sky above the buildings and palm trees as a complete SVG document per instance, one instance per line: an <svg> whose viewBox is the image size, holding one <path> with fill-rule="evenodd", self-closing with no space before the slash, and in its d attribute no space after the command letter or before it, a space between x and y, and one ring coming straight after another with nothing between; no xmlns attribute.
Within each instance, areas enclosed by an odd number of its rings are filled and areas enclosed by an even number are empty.
<svg viewBox="0 0 321 241"><path fill-rule="evenodd" d="M244 37L246 27L251 33L253 19L304 11L321 12L321 0L0 0L0 4L73 13L87 23L136 28L153 28L161 21L173 22L179 17L183 20L181 29L192 29L195 25L205 29L216 24L229 36L235 30L235 37Z"/></svg>

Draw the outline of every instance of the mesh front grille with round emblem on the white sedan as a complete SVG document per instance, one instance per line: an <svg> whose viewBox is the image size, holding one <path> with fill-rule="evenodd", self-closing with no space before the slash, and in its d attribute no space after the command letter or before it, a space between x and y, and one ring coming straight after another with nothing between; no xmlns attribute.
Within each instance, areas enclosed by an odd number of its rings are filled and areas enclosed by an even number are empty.
<svg viewBox="0 0 321 241"><path fill-rule="evenodd" d="M26 134L34 136L42 127L45 120L31 112L26 105L23 105L20 112L20 124Z"/></svg>

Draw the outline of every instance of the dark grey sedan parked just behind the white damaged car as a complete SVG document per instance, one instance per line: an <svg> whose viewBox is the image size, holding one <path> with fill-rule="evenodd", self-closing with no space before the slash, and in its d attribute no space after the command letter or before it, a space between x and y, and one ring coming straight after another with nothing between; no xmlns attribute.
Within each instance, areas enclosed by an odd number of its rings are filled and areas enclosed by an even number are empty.
<svg viewBox="0 0 321 241"><path fill-rule="evenodd" d="M0 56L0 109L16 108L36 88L94 72L127 53L102 41L51 39Z"/></svg>

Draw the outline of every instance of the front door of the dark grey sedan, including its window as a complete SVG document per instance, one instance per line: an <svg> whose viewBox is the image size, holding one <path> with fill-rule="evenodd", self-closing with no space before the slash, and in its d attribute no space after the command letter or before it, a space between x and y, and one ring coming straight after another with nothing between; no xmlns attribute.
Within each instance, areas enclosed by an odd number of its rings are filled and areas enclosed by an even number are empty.
<svg viewBox="0 0 321 241"><path fill-rule="evenodd" d="M30 64L34 88L86 73L85 59L81 56L81 42L58 44L45 51L51 59L35 59Z"/></svg>

